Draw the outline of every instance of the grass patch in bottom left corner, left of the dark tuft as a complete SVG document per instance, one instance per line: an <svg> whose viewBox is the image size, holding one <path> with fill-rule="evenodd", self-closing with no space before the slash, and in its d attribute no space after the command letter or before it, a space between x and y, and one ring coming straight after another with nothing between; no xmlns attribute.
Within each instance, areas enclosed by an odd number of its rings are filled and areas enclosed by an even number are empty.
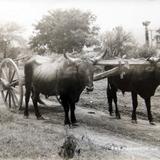
<svg viewBox="0 0 160 160"><path fill-rule="evenodd" d="M2 113L0 159L45 159L57 154L57 139L64 137L63 133L57 133L52 125L42 121L23 119L8 111Z"/></svg>

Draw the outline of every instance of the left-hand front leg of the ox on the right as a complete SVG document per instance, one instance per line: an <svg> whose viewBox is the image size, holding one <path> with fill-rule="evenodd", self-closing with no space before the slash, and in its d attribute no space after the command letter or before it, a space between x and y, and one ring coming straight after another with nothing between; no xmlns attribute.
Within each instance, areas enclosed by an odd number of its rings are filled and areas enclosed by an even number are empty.
<svg viewBox="0 0 160 160"><path fill-rule="evenodd" d="M137 93L132 92L131 94L132 94L132 105L133 105L132 123L137 123L137 116L136 116L136 109L138 106Z"/></svg>

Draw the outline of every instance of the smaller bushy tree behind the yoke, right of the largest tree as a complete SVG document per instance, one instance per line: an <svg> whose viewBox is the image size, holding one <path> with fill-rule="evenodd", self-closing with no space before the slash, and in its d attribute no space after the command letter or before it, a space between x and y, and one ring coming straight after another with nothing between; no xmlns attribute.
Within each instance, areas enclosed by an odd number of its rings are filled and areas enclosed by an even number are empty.
<svg viewBox="0 0 160 160"><path fill-rule="evenodd" d="M107 47L110 50L108 57L122 57L129 54L136 46L132 35L120 26L113 28L111 32L106 32L102 36L102 43L104 48Z"/></svg>

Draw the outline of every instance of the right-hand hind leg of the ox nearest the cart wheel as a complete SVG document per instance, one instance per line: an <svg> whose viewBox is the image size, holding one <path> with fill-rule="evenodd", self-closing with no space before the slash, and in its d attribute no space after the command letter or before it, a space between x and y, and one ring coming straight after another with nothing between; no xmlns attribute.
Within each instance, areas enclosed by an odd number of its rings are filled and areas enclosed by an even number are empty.
<svg viewBox="0 0 160 160"><path fill-rule="evenodd" d="M42 117L42 115L40 114L39 109L38 109L38 104L37 104L38 100L39 100L39 93L34 91L33 96L32 96L32 101L33 101L33 105L34 105L35 115L38 120L43 120L44 118Z"/></svg>

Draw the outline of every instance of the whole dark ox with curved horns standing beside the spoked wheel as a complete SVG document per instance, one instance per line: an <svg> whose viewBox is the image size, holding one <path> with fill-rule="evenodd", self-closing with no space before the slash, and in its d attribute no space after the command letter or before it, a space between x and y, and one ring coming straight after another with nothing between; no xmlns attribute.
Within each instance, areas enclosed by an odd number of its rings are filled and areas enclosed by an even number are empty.
<svg viewBox="0 0 160 160"><path fill-rule="evenodd" d="M35 115L37 119L43 119L37 105L39 95L42 93L46 96L59 96L65 112L64 123L76 123L75 103L78 102L85 87L87 91L93 90L93 67L105 53L89 60L71 58L67 54L57 60L41 56L32 57L24 67L26 87L24 115L27 117L29 115L28 102L32 92Z"/></svg>

